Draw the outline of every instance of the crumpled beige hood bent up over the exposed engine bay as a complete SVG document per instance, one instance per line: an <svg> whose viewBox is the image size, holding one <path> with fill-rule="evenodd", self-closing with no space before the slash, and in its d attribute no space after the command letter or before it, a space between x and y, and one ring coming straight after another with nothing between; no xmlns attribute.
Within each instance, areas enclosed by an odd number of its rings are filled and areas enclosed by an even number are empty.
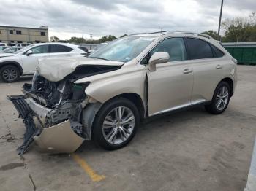
<svg viewBox="0 0 256 191"><path fill-rule="evenodd" d="M68 74L75 71L78 66L121 66L124 62L118 61L104 61L97 58L87 57L54 57L39 59L37 71L42 77L51 82L58 82L64 79Z"/></svg>

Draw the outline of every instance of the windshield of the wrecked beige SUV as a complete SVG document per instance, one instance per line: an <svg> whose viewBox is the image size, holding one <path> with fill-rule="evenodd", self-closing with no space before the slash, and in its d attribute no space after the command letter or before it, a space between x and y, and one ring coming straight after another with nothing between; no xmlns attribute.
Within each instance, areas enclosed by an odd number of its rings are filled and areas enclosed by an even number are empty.
<svg viewBox="0 0 256 191"><path fill-rule="evenodd" d="M89 57L109 61L128 62L138 56L153 40L154 37L128 36L105 44L104 47L91 53Z"/></svg>

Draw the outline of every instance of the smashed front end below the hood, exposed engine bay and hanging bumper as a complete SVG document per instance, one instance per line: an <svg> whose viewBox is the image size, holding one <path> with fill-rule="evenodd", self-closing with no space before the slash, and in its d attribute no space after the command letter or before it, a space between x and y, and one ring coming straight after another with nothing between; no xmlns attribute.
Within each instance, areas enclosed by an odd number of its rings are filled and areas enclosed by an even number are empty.
<svg viewBox="0 0 256 191"><path fill-rule="evenodd" d="M58 82L50 82L36 72L32 84L23 85L24 95L7 96L26 126L18 154L23 155L33 141L52 152L74 152L84 140L91 139L92 121L101 104L86 95L85 90L90 82L75 84L75 81L119 68L78 67ZM54 139L66 141L64 143L67 145L64 147Z"/></svg>

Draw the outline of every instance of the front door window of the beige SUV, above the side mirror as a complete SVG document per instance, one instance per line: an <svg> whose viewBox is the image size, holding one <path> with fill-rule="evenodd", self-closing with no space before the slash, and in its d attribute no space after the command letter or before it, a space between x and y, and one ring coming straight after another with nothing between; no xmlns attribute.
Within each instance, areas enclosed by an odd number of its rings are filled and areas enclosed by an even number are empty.
<svg viewBox="0 0 256 191"><path fill-rule="evenodd" d="M170 61L184 61L187 59L186 48L183 38L170 38L160 42L157 47L151 50L150 55L154 52L167 52L170 55Z"/></svg>

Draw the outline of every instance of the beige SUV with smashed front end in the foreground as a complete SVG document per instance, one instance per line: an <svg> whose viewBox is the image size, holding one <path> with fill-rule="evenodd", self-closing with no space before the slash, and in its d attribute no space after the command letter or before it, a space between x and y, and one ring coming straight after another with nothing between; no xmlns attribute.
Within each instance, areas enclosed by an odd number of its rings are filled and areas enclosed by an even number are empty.
<svg viewBox="0 0 256 191"><path fill-rule="evenodd" d="M26 125L18 152L33 141L74 152L91 139L118 149L146 117L197 104L221 114L236 80L236 60L222 45L188 32L132 34L88 58L45 58L24 95L8 96Z"/></svg>

